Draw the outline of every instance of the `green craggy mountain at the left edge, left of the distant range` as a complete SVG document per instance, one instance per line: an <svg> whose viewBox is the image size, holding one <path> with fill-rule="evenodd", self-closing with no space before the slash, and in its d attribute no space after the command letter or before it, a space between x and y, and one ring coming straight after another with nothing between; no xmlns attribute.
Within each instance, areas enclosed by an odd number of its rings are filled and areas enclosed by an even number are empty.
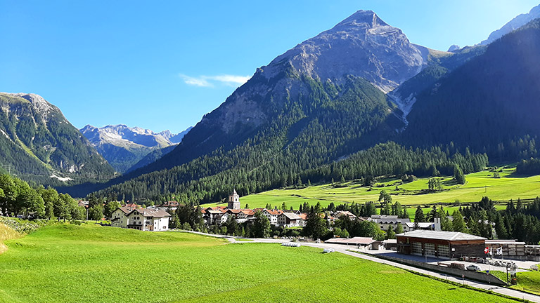
<svg viewBox="0 0 540 303"><path fill-rule="evenodd" d="M43 97L0 93L0 109L0 161L8 172L45 185L114 175L60 109Z"/></svg>

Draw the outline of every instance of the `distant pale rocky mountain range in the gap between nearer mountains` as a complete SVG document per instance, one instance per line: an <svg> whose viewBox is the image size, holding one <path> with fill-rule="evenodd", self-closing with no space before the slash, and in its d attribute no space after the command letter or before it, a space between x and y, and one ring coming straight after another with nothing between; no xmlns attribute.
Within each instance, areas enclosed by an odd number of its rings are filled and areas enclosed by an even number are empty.
<svg viewBox="0 0 540 303"><path fill-rule="evenodd" d="M109 125L102 128L84 126L81 133L119 173L129 171L159 159L172 150L171 146L181 142L191 128L173 134L169 130L154 133L152 130L125 125ZM167 149L165 149L167 148ZM153 156L148 154L153 153ZM142 161L139 163L139 161Z"/></svg>

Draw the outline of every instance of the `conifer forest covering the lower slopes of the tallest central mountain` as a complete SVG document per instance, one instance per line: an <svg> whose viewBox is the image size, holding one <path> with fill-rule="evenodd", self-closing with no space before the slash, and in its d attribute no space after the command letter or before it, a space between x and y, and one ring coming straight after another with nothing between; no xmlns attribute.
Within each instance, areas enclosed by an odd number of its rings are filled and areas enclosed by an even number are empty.
<svg viewBox="0 0 540 303"><path fill-rule="evenodd" d="M345 85L335 86L294 73L287 77L305 95L286 98L283 104L266 103L268 112L275 112L276 118L237 147L227 144L184 165L142 175L104 192L152 197L184 191L184 187L200 178L216 174L219 175L215 178L226 178L224 182L228 184L222 189L210 186L205 189L206 201L218 198L234 184L241 187L240 180L250 183L249 187L268 189L281 186L283 176L296 177L304 170L373 146L379 140L388 140L402 126L394 114L394 105L364 79L349 76ZM270 95L269 99L272 98ZM246 173L255 175L248 181ZM191 195L204 198L198 190Z"/></svg>

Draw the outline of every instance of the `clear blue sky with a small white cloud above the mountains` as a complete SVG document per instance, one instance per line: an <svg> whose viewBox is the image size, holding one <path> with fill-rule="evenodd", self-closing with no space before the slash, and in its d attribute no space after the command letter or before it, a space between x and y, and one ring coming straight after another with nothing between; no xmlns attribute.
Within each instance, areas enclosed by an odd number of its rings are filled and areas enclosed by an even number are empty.
<svg viewBox="0 0 540 303"><path fill-rule="evenodd" d="M184 130L257 67L357 10L413 43L487 38L536 1L4 1L0 91L37 93L77 128Z"/></svg>

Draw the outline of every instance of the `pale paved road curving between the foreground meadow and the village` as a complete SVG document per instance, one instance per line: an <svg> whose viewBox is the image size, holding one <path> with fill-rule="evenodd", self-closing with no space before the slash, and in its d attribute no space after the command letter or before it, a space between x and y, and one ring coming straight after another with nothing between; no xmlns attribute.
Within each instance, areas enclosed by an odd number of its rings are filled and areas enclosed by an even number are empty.
<svg viewBox="0 0 540 303"><path fill-rule="evenodd" d="M202 234L202 235L205 235L205 236L215 236L217 238L226 238L231 243L283 243L283 242L290 242L290 240L267 239L267 238L255 238L255 239L253 239L253 241L247 241L247 242L242 241L242 242L240 242L240 241L236 241L236 238L231 237L231 236L203 234L203 233L199 233L199 232L196 232L196 231L190 231L190 232L193 233L193 234ZM388 264L388 265L391 265L393 267L399 267L401 269L406 269L406 270L409 270L409 271L415 271L415 272L418 272L420 274L425 274L425 275L428 275L428 276L434 276L436 278L442 278L442 279L447 280L447 281L453 281L453 282L456 282L456 283L465 283L466 285L472 286L474 288L480 288L480 289L484 289L484 290L491 290L492 292L497 292L497 293L500 293L500 294L503 294L503 295L508 295L510 297L516 297L516 298L519 298L519 299L527 299L527 300L529 300L531 302L540 303L540 296L531 295L531 294L528 294L527 292L520 292L519 290L513 290L513 289L510 289L510 288L503 288L503 287L500 287L500 286L489 285L489 284L486 284L486 283L480 283L480 282L476 282L476 281L470 281L470 280L467 280L467 279L462 280L461 278L456 278L454 276L448 276L448 275L445 275L445 274L439 274L437 272L428 271L428 270L425 270L425 269L419 269L417 267L411 267L409 265L399 264L399 263L388 261L388 260L382 260L382 259L379 259L377 257L371 257L369 255L362 255L360 253L354 253L354 252L349 251L349 250L354 250L354 251L362 252L362 250L356 249L356 246L352 246L352 245L347 246L347 245L340 245L340 244L326 244L326 243L309 243L309 242L301 242L301 243L304 246L310 246L310 247L314 247L314 248L323 248L323 249L324 248L333 248L338 253L349 255L349 256L352 256L352 257L358 257L360 259L369 260L369 261L382 263L382 264Z"/></svg>

